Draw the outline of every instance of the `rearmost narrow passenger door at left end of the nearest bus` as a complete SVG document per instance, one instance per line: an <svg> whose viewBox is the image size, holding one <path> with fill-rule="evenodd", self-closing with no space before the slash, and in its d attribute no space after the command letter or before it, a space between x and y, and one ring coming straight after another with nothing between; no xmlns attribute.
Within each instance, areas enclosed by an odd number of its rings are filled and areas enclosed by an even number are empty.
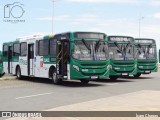
<svg viewBox="0 0 160 120"><path fill-rule="evenodd" d="M8 48L8 73L11 74L12 73L12 46L9 46Z"/></svg>

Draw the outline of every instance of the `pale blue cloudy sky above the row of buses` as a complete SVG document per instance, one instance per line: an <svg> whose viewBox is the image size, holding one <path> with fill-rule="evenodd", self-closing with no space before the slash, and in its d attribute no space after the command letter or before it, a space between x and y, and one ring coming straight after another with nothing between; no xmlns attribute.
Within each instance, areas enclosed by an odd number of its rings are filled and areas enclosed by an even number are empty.
<svg viewBox="0 0 160 120"><path fill-rule="evenodd" d="M52 32L53 0L1 0L0 45L18 37ZM160 48L160 0L54 0L54 33L98 31L154 38ZM4 22L4 6L20 2L22 23ZM15 19L15 18L10 18ZM1 49L1 46L0 46Z"/></svg>

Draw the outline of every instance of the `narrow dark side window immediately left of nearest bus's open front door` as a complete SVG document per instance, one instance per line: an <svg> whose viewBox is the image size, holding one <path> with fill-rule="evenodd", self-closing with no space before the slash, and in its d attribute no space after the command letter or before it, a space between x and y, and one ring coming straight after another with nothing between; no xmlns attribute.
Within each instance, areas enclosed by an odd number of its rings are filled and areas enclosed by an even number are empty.
<svg viewBox="0 0 160 120"><path fill-rule="evenodd" d="M57 41L55 39L50 40L50 55L56 56L56 45Z"/></svg>

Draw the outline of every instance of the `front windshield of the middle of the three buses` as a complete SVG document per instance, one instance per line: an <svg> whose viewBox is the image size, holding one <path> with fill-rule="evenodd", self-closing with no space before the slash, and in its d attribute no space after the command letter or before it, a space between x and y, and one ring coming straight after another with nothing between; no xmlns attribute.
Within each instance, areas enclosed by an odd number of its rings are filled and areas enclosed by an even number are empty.
<svg viewBox="0 0 160 120"><path fill-rule="evenodd" d="M109 57L112 60L133 60L134 59L134 46L130 43L110 43L109 44Z"/></svg>

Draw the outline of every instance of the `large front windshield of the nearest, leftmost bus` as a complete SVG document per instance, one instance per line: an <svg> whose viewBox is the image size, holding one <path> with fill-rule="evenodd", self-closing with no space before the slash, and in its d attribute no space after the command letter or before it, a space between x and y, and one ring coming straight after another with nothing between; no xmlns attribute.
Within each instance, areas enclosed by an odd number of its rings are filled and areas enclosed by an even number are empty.
<svg viewBox="0 0 160 120"><path fill-rule="evenodd" d="M107 60L107 44L100 40L75 40L73 58L78 60Z"/></svg>

